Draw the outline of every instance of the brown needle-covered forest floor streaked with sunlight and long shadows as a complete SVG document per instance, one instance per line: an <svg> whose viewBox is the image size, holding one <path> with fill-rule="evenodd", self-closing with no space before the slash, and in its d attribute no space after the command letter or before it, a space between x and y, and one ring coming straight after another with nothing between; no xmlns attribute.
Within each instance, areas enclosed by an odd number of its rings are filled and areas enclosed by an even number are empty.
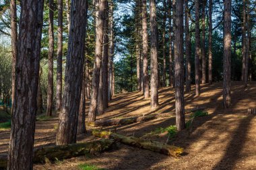
<svg viewBox="0 0 256 170"><path fill-rule="evenodd" d="M222 107L222 83L202 85L199 97L194 96L193 87L191 93L185 93L185 101L186 110L205 107L209 115L195 118L191 130L184 130L169 141L185 148L185 155L179 159L119 144L98 155L34 165L34 169L75 170L84 163L99 169L256 169L256 116L247 115L248 108L256 108L256 82L249 83L247 89L242 83L232 83L232 107L228 110ZM159 108L152 112L150 99L143 99L140 92L117 95L98 119L162 114L155 120L117 127L120 134L145 136L157 128L175 124L174 89L160 89L159 102ZM36 122L36 147L55 143L57 123L57 118ZM78 142L94 140L93 128L87 128L88 134L78 136ZM166 142L167 135L146 135L145 138ZM8 144L9 130L0 132L0 155L6 154Z"/></svg>

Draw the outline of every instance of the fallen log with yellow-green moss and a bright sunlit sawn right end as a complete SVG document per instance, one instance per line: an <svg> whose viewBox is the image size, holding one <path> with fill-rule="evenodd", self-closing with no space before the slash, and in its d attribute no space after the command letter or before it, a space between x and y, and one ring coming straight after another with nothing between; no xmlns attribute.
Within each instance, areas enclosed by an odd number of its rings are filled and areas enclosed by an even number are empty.
<svg viewBox="0 0 256 170"><path fill-rule="evenodd" d="M133 136L123 136L121 134L99 130L93 130L92 134L100 138L113 138L123 144L135 146L137 148L143 148L155 153L162 153L164 155L169 155L175 158L179 157L183 153L183 148L163 144L161 142L155 142L152 140L143 140Z"/></svg>

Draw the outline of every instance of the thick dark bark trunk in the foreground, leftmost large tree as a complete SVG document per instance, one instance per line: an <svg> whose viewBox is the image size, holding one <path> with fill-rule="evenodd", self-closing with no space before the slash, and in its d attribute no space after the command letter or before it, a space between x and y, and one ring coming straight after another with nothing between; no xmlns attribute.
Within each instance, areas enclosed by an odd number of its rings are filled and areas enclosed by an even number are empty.
<svg viewBox="0 0 256 170"><path fill-rule="evenodd" d="M7 169L32 169L44 1L20 1L15 95Z"/></svg>

